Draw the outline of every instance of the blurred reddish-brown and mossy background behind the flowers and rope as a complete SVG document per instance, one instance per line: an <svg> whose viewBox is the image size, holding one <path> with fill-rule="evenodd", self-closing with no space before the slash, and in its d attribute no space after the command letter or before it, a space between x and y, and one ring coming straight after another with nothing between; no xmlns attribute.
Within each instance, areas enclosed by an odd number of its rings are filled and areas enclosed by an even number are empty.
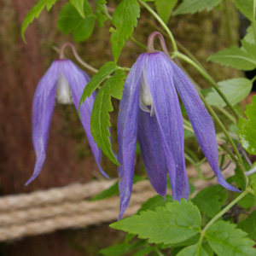
<svg viewBox="0 0 256 256"><path fill-rule="evenodd" d="M35 154L32 148L32 98L38 80L44 75L51 61L58 58L53 49L65 42L73 42L71 35L63 35L57 28L57 17L67 1L58 1L48 13L43 11L26 30L26 44L20 37L20 27L26 14L36 0L0 0L0 193L16 195L38 189L65 186L70 183L90 183L103 179L99 174L90 146L72 106L56 105L49 132L49 143L44 168L39 177L28 186L26 180L32 175ZM96 1L90 1L95 10ZM111 8L119 1L108 1ZM239 38L247 27L247 21L238 15L230 1L230 17L233 38ZM75 44L79 55L91 66L99 68L106 61L113 61L109 44L109 27L100 29L97 24L89 40ZM159 24L143 9L134 37L147 44L150 32L158 30ZM172 17L168 22L174 37L201 61L214 79L222 80L241 75L238 71L207 63L207 57L218 49L230 45L223 10L214 9L195 15ZM172 49L170 42L167 42ZM71 51L66 55L78 66ZM137 56L143 53L131 41L125 44L119 66L131 67ZM209 84L193 67L183 63L189 74L203 88ZM80 66L79 66L80 67ZM85 70L86 71L86 70ZM87 71L86 71L87 72ZM90 76L93 73L90 73ZM112 113L113 148L116 150L116 113ZM102 166L110 177L117 177L117 168L103 158ZM137 172L143 173L143 163L137 159ZM46 255L97 255L99 249L121 241L124 233L98 224L79 230L61 230L44 236L32 236L19 241L0 244L0 255L46 256Z"/></svg>

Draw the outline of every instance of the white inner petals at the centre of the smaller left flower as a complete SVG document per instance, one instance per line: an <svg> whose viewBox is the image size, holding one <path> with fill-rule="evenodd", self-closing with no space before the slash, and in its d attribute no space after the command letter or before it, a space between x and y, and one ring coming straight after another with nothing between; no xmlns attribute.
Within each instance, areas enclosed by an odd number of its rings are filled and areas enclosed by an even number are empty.
<svg viewBox="0 0 256 256"><path fill-rule="evenodd" d="M72 104L72 93L63 73L59 74L56 87L56 101L60 104Z"/></svg>

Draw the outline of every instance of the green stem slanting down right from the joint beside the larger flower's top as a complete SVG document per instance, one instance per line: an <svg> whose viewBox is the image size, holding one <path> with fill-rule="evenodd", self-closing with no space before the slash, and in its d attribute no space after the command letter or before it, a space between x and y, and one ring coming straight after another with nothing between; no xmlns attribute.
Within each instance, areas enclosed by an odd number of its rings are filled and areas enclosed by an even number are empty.
<svg viewBox="0 0 256 256"><path fill-rule="evenodd" d="M255 0L256 1L256 0ZM228 101L227 97L224 96L224 93L219 90L218 85L214 82L214 80L210 77L210 75L208 75L201 67L199 67L195 61L192 61L191 59L189 59L188 56L183 55L182 53L179 52L175 52L174 53L175 56L177 56L178 58L182 59L183 61L188 62L190 65L192 65L193 67L195 67L197 69L197 71L199 73L201 73L201 75L207 79L207 81L212 85L212 87L217 90L219 96L221 96L224 100L224 102L226 102L226 104L229 106L230 110L235 114L236 119L239 119L239 115L236 112L236 109L230 104L230 102Z"/></svg>

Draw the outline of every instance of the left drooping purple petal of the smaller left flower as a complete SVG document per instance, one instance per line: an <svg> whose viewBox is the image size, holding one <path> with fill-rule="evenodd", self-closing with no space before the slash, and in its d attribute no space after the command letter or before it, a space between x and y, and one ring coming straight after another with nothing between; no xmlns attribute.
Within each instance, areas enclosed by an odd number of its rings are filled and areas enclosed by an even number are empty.
<svg viewBox="0 0 256 256"><path fill-rule="evenodd" d="M32 177L26 182L26 185L38 177L44 165L45 151L49 137L49 125L55 108L55 84L60 73L60 68L58 61L54 61L51 64L44 77L40 79L33 98L32 142L36 153L36 164Z"/></svg>

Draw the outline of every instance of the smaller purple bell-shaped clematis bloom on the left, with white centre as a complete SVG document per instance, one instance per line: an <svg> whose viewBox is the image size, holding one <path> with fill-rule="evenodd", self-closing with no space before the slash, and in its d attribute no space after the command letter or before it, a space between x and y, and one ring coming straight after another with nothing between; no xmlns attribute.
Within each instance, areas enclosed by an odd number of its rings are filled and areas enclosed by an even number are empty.
<svg viewBox="0 0 256 256"><path fill-rule="evenodd" d="M78 109L84 86L89 81L90 77L70 60L53 61L44 77L40 79L32 105L32 142L36 152L36 164L32 177L26 182L26 185L38 177L44 165L49 125L55 107L55 98L60 103L73 103L75 108ZM83 118L81 123L90 143L96 164L102 175L108 177L100 166L102 151L94 143L90 133L90 113L95 97L96 92L86 99L80 107L80 113Z"/></svg>

